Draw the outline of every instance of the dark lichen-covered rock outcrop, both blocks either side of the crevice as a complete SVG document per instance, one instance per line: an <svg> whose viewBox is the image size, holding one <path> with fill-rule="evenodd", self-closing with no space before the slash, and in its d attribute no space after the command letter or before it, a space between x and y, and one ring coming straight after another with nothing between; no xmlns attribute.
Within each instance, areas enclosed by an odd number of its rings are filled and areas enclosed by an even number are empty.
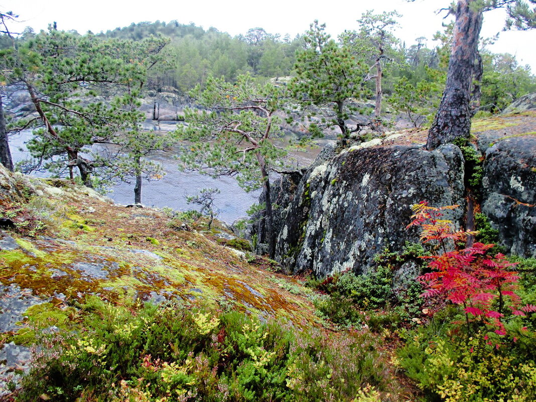
<svg viewBox="0 0 536 402"><path fill-rule="evenodd" d="M494 128L500 126L495 120L490 123ZM509 254L536 257L536 134L511 133L509 122L477 138L484 157L477 205ZM393 138L407 143L402 134L390 138L337 155L323 153L323 160L309 169L272 185L279 207L275 258L288 271L318 277L367 272L374 255L385 248L398 251L406 241L418 241L406 225L410 205L421 200L433 206L460 204L450 218L463 226L467 178L460 149L449 144L430 152L391 144ZM253 225L252 234L264 239L262 221Z"/></svg>

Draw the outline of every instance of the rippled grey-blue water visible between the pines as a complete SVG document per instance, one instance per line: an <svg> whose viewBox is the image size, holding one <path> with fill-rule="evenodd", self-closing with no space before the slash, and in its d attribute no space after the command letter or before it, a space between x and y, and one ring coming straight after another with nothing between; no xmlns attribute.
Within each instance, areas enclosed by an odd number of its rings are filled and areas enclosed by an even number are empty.
<svg viewBox="0 0 536 402"><path fill-rule="evenodd" d="M160 128L154 127L150 121L144 124L145 129L172 130L174 123L165 122L160 124ZM25 150L24 142L31 136L31 131L25 130L10 138L11 152L14 161L19 161L29 157ZM22 149L19 149L22 148ZM301 153L299 155L300 165L307 165L318 151L312 153ZM261 190L245 192L239 187L235 178L222 176L217 179L204 176L197 172L180 172L177 169L175 159L176 152L158 152L151 155L151 160L158 161L163 166L165 176L158 181L143 181L142 203L147 206L170 207L174 210L187 211L196 209L194 205L186 202L187 195L195 195L204 188L217 188L221 192L216 195L214 209L219 211L218 219L229 224L236 219L247 215L249 207L258 202ZM36 176L46 177L46 173L38 173ZM134 182L117 183L107 194L116 203L133 204L134 202Z"/></svg>

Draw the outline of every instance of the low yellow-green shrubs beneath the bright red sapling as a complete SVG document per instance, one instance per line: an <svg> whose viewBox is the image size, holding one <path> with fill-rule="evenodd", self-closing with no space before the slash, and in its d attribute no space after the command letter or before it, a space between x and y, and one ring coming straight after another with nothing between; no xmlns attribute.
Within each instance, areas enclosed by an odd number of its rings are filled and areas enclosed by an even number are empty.
<svg viewBox="0 0 536 402"><path fill-rule="evenodd" d="M492 333L490 333L491 335ZM426 400L519 401L536 398L536 363L519 359L512 341L497 347L483 333L468 339L413 332L398 352L399 364Z"/></svg>

